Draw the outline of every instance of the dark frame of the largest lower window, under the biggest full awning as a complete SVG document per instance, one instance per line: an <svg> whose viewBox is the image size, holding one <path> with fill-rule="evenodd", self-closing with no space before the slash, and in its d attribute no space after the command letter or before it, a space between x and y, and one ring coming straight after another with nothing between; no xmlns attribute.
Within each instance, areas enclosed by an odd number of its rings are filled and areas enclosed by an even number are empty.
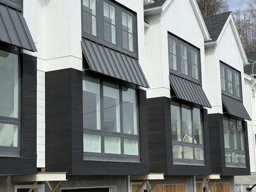
<svg viewBox="0 0 256 192"><path fill-rule="evenodd" d="M83 128L83 134L94 134L101 136L101 153L96 152L84 152L84 160L93 160L93 161L109 161L109 162L140 162L141 150L140 150L140 122L139 122L139 98L138 98L138 90L137 86L128 82L123 82L119 80L109 79L99 75L94 74L93 72L83 73L83 77L91 77L100 80L100 130L88 129ZM83 78L84 79L84 78ZM102 121L104 118L103 108L103 82L109 82L112 84L116 84L119 86L119 100L120 100L120 133L119 132L112 132L104 130ZM123 114L122 114L122 87L130 88L135 90L136 96L136 106L137 106L137 128L138 128L138 135L135 134L125 134L123 133ZM121 138L121 154L108 154L104 153L104 136L114 136ZM124 154L124 139L135 139L138 140L138 156L137 155L125 155Z"/></svg>

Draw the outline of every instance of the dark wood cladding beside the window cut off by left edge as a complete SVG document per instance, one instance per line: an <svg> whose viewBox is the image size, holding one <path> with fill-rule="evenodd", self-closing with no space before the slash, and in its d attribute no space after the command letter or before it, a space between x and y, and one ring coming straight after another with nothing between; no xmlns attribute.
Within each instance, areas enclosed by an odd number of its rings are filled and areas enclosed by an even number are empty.
<svg viewBox="0 0 256 192"><path fill-rule="evenodd" d="M36 58L20 55L21 158L0 157L0 174L36 173Z"/></svg>

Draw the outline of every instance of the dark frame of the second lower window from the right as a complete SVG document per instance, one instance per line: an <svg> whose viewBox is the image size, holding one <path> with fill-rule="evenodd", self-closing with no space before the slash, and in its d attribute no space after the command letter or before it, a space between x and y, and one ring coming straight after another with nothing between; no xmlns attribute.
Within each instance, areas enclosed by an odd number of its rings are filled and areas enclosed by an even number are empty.
<svg viewBox="0 0 256 192"><path fill-rule="evenodd" d="M192 125L192 143L189 142L183 142L181 141L176 141L176 140L172 140L172 146L173 145L180 145L182 146L183 150L184 147L183 146L188 146L188 147L193 147L193 159L184 159L184 152L182 152L182 159L180 158L173 158L173 164L175 165L195 165L195 166L205 166L205 147L204 147L204 126L203 126L203 115L202 115L202 106L200 105L194 105L191 104L190 102L182 102L179 99L171 99L171 104L170 104L170 110L171 110L171 105L172 102L178 103L179 104L179 108L180 108L180 120L182 121L182 105L186 105L190 107L190 111L191 111L191 125ZM195 144L194 143L194 125L193 125L193 108L197 108L200 110L200 119L201 119L201 128L202 128L202 144ZM172 120L172 117L170 117ZM182 122L180 123L180 129L181 129L181 136L182 134ZM195 148L202 148L203 152L204 152L204 160L195 160ZM173 156L173 153L172 153Z"/></svg>

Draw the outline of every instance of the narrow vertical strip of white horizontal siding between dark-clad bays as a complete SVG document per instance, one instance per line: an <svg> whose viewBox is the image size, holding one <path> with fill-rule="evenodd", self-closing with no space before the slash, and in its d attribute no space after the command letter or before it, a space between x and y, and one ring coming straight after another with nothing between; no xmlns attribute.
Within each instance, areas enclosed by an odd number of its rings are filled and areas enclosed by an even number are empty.
<svg viewBox="0 0 256 192"><path fill-rule="evenodd" d="M37 167L45 167L45 72L37 70Z"/></svg>

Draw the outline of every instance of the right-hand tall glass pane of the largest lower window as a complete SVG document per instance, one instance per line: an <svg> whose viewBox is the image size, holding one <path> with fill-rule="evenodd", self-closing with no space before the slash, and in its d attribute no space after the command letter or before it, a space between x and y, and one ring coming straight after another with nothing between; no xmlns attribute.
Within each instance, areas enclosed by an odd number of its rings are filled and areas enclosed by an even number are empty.
<svg viewBox="0 0 256 192"><path fill-rule="evenodd" d="M122 100L123 132L138 135L138 116L135 90L122 87Z"/></svg>

